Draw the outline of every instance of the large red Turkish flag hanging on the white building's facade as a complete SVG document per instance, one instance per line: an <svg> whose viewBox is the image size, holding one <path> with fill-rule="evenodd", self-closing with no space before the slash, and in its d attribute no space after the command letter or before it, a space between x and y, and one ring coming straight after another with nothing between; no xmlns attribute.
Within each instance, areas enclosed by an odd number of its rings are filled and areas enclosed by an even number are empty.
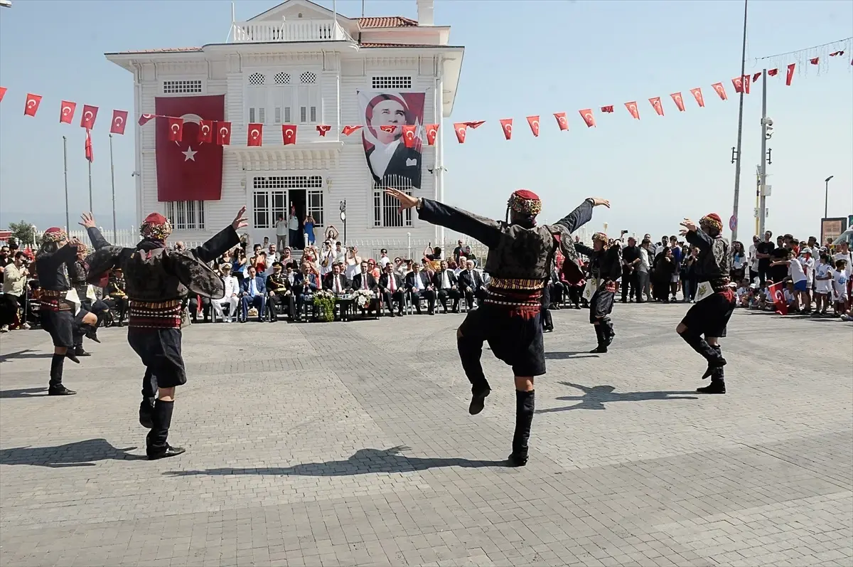
<svg viewBox="0 0 853 567"><path fill-rule="evenodd" d="M154 114L183 118L181 142L169 140L170 120L157 120L157 200L218 201L223 147L198 140L201 120L225 120L225 96L158 96L154 101Z"/></svg>

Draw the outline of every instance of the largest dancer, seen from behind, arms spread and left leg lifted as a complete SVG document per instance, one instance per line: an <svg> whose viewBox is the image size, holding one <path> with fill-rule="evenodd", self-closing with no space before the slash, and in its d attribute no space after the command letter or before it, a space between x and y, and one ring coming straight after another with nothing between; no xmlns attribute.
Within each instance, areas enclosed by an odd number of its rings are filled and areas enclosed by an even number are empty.
<svg viewBox="0 0 853 567"><path fill-rule="evenodd" d="M469 311L456 330L456 347L472 386L468 406L472 415L483 411L485 398L491 391L480 362L483 342L488 342L492 353L512 366L516 390L515 433L508 464L526 465L535 408L533 380L545 373L540 312L551 263L558 248L567 259L577 258L570 233L592 219L594 207L610 207L610 203L590 198L555 225L537 225L542 201L529 190L517 190L509 197L506 222L392 188L387 188L386 193L400 202L401 213L414 207L421 220L467 234L489 248L485 272L490 274L491 281L482 305L476 311ZM573 261L566 264L577 267ZM572 275L580 278L582 274Z"/></svg>

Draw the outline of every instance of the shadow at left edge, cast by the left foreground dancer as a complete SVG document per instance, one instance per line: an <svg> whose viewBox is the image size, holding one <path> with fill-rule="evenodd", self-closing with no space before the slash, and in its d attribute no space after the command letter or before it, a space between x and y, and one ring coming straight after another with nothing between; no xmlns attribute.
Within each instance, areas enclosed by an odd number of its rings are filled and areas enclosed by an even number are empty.
<svg viewBox="0 0 853 567"><path fill-rule="evenodd" d="M106 439L89 439L57 445L55 447L12 447L0 449L0 465L32 465L62 468L67 466L95 466L101 460L139 460L144 455L129 455L136 447L119 449Z"/></svg>

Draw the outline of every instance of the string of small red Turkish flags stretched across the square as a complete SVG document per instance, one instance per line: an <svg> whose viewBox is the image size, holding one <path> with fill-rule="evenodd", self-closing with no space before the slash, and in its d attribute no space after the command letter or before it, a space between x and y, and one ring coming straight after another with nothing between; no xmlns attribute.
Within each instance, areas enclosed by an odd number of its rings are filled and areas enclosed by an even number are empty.
<svg viewBox="0 0 853 567"><path fill-rule="evenodd" d="M828 54L829 57L841 57L844 56L844 50L835 50L832 53ZM811 66L820 66L821 65L821 57L810 57L808 60L808 64ZM850 61L850 65L853 66L853 60ZM797 63L790 63L785 68L785 85L791 86L792 80L794 77L795 70L797 69ZM775 77L780 74L780 67L772 68L767 71L769 77ZM752 83L756 83L758 79L761 79L762 71L752 74L745 74L742 77L735 77L732 80L732 88L735 93L740 93L741 91L748 95L750 93L750 85ZM725 86L722 83L714 83L711 85L711 89L719 96L721 101L728 100L728 93L726 91ZM6 87L0 86L0 102L3 101L3 97L6 95ZM702 92L701 87L696 87L690 89L690 95L693 96L693 100L699 106L699 108L705 107L705 95ZM676 108L679 112L686 111L686 103L684 100L684 96L682 96L682 92L673 92L670 94L670 98L672 102L675 104ZM664 116L664 101L665 98L660 96L654 96L648 99L649 104L651 105L653 111L658 116ZM26 100L24 102L24 114L26 116L35 117L38 113L39 108L41 108L42 96L27 93ZM59 121L61 124L73 124L74 114L77 111L77 103L72 101L61 101L60 104L60 114ZM616 105L606 105L599 108L599 112L601 114L613 114L615 112ZM624 107L630 116L634 120L640 120L640 107L641 102L630 101L624 102ZM583 123L588 128L596 127L595 120L595 109L593 108L583 108L582 110L577 111L580 114ZM95 121L98 116L98 107L92 106L90 104L84 104L82 108L82 112L80 114L80 126L85 128L86 136L87 136L87 158L90 158L90 131L95 127ZM127 126L127 117L128 111L126 110L113 110L113 119L110 122L110 133L111 134L125 134L125 127ZM530 127L531 132L534 137L539 136L540 129L540 118L539 114L534 114L531 116L525 117L527 120L527 125ZM137 121L139 126L144 126L148 121L154 119L165 119L168 120L169 126L169 140L175 142L183 141L183 118L178 118L175 116L165 116L162 114L142 114ZM560 131L566 132L569 130L569 120L566 112L555 112L554 119L557 122L557 127L560 128ZM502 118L498 120L501 129L503 132L503 136L505 139L510 140L513 137L513 124L514 119L512 118ZM485 120L471 120L466 122L455 122L453 124L454 132L456 132L456 139L459 143L465 143L467 138L468 130L475 130L479 126L485 124ZM364 125L346 125L341 130L341 134L344 136L350 136L354 132L362 129ZM321 137L325 137L328 132L331 131L332 126L328 126L325 124L316 125L316 132L319 133ZM421 137L421 128L423 134L427 138L427 143L429 145L434 145L436 137L438 135L438 124L425 124L425 125L415 125L415 126L380 126L380 129L384 132L395 132L397 128L402 129L402 137L403 143L407 148L415 147L415 139ZM281 139L284 145L293 145L297 140L297 132L299 130L298 125L294 124L284 124L281 125ZM260 147L262 145L264 137L264 125L260 123L249 123L247 125L247 146L249 147ZM222 121L222 120L200 120L199 122L199 134L198 140L199 143L218 143L219 145L230 145L231 143L231 122Z"/></svg>

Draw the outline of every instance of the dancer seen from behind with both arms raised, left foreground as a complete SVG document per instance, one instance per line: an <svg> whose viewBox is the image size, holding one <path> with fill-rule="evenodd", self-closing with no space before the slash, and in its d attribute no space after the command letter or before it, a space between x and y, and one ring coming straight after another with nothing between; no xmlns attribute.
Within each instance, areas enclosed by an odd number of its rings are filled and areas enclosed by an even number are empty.
<svg viewBox="0 0 853 567"><path fill-rule="evenodd" d="M198 248L169 250L165 240L171 223L160 213L151 213L142 222L142 241L136 248L112 246L96 228L91 213L83 222L95 247L90 255L90 281L101 278L114 267L125 272L130 300L127 342L145 365L139 423L148 427L148 459L163 459L184 452L167 442L175 405L175 388L187 382L181 356L181 300L189 294L221 299L222 278L209 262L240 243L237 230L247 226L240 209L234 221ZM156 395L156 400L155 400Z"/></svg>

